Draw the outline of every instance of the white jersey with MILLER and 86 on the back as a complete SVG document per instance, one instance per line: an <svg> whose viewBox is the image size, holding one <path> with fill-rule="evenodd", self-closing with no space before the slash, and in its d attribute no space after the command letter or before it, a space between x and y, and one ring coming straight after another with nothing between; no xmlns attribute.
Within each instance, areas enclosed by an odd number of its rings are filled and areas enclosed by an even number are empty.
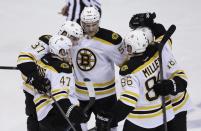
<svg viewBox="0 0 201 131"><path fill-rule="evenodd" d="M143 56L131 58L120 70L121 83L124 86L120 100L128 106L135 107L126 119L143 128L154 128L163 124L161 96L157 96L152 89L159 79L158 56L156 45L149 45ZM162 60L164 79L169 79L181 71L169 44L165 44L163 48ZM175 116L174 102L171 95L165 99L167 121L170 121Z"/></svg>

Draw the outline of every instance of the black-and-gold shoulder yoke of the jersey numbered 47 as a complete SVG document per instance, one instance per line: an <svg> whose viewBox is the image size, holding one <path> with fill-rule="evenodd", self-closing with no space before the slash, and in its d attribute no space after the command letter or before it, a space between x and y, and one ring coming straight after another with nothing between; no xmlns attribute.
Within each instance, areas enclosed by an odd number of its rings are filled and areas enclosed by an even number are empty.
<svg viewBox="0 0 201 131"><path fill-rule="evenodd" d="M72 65L51 56L50 53L41 58L44 67L58 73L72 73Z"/></svg>

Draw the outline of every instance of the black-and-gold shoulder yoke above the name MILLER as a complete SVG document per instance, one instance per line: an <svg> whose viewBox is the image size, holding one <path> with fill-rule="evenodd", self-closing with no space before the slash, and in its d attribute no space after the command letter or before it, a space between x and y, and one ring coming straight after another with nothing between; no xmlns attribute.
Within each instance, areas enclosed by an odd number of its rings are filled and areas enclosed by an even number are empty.
<svg viewBox="0 0 201 131"><path fill-rule="evenodd" d="M149 45L143 55L131 57L120 68L119 74L125 76L140 71L149 64L153 57L157 57L157 46Z"/></svg>

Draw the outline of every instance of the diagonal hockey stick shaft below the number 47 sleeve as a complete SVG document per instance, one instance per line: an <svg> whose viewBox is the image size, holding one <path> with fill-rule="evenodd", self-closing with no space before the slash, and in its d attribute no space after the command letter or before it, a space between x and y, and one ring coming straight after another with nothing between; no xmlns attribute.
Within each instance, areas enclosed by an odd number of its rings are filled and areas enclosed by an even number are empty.
<svg viewBox="0 0 201 131"><path fill-rule="evenodd" d="M68 119L68 117L66 116L66 114L64 113L63 109L61 108L61 106L59 105L59 103L56 101L56 99L54 98L54 96L52 95L52 92L50 90L47 90L49 96L52 98L52 100L54 101L54 103L56 104L57 108L59 109L59 111L61 112L62 116L66 119L66 121L68 122L68 124L70 125L70 127L73 129L73 131L76 131L75 127L73 126L73 124L71 123L71 121Z"/></svg>

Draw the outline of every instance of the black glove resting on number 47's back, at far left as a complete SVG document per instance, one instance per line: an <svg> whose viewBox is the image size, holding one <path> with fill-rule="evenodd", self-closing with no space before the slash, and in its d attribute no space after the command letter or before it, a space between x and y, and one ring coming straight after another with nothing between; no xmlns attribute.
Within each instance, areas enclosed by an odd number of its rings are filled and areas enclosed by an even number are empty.
<svg viewBox="0 0 201 131"><path fill-rule="evenodd" d="M51 90L50 80L39 75L39 73L32 73L28 77L26 83L33 85L34 88L41 94L46 94Z"/></svg>

